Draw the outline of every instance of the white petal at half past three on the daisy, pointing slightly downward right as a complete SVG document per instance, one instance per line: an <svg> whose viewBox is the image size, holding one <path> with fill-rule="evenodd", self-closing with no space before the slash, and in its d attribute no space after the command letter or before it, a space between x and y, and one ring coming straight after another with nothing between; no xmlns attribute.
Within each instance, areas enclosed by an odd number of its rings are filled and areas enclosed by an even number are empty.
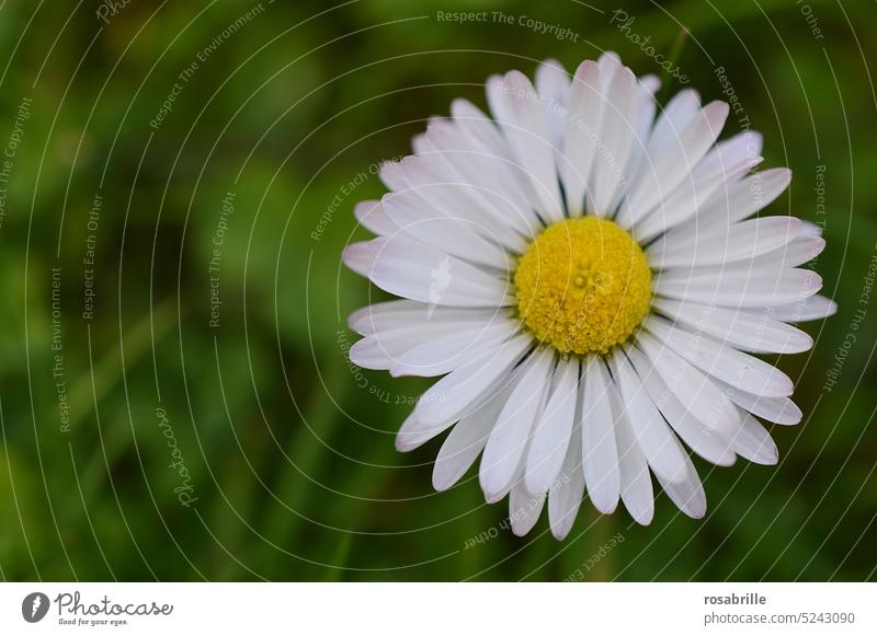
<svg viewBox="0 0 877 636"><path fill-rule="evenodd" d="M799 354L813 345L813 339L806 333L773 320L766 310L762 315L756 315L667 298L656 298L653 307L674 322L702 331L722 344L744 351Z"/></svg>

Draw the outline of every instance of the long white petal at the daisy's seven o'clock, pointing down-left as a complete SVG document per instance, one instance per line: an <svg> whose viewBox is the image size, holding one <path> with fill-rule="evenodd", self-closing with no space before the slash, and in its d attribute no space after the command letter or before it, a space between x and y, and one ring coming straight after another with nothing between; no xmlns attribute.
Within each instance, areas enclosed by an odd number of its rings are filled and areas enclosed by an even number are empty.
<svg viewBox="0 0 877 636"><path fill-rule="evenodd" d="M537 418L545 408L554 357L535 351L521 370L521 380L487 441L478 477L488 501L511 487Z"/></svg>

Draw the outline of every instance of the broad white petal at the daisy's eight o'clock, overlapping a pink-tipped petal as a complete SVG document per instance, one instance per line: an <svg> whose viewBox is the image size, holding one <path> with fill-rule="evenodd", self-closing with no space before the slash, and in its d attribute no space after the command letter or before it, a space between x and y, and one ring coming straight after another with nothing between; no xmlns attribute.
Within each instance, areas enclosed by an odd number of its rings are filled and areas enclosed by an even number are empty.
<svg viewBox="0 0 877 636"><path fill-rule="evenodd" d="M414 413L434 425L464 417L478 397L502 379L531 345L529 336L517 336L493 354L469 360L433 384L418 401Z"/></svg>

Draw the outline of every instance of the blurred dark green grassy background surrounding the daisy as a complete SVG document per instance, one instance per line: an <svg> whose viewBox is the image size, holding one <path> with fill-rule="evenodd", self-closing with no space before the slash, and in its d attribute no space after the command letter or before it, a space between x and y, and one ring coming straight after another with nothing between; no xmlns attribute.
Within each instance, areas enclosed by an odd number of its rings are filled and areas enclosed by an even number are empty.
<svg viewBox="0 0 877 636"><path fill-rule="evenodd" d="M0 2L0 152L31 100L0 226L3 579L875 577L877 308L863 297L877 240L874 2L277 0L242 22L254 2L117 4L106 24L93 2ZM376 162L408 152L455 96L485 107L490 73L532 77L548 56L572 70L604 49L660 71L611 23L615 9L705 101L722 96L714 69L726 68L765 136L763 165L795 173L770 210L824 226L816 266L840 311L806 326L811 352L778 362L806 414L774 427L779 465L698 461L706 519L663 494L647 528L585 501L565 542L545 517L517 539L471 471L432 492L437 440L394 450L428 383L350 366L345 317L383 296L339 256L367 236L352 208L383 193ZM437 20L460 10L514 24ZM535 33L521 15L576 37ZM662 103L679 89L665 82ZM732 116L727 134L739 129ZM196 500L182 505L182 492ZM488 540L467 548L477 536Z"/></svg>

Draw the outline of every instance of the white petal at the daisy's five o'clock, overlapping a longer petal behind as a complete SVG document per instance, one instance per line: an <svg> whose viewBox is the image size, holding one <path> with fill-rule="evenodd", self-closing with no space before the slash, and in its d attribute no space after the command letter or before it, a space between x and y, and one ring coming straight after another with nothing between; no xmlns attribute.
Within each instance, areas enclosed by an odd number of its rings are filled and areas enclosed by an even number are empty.
<svg viewBox="0 0 877 636"><path fill-rule="evenodd" d="M616 349L610 360L624 401L627 423L649 466L669 482L683 481L685 452L679 440L667 426L624 352Z"/></svg>

